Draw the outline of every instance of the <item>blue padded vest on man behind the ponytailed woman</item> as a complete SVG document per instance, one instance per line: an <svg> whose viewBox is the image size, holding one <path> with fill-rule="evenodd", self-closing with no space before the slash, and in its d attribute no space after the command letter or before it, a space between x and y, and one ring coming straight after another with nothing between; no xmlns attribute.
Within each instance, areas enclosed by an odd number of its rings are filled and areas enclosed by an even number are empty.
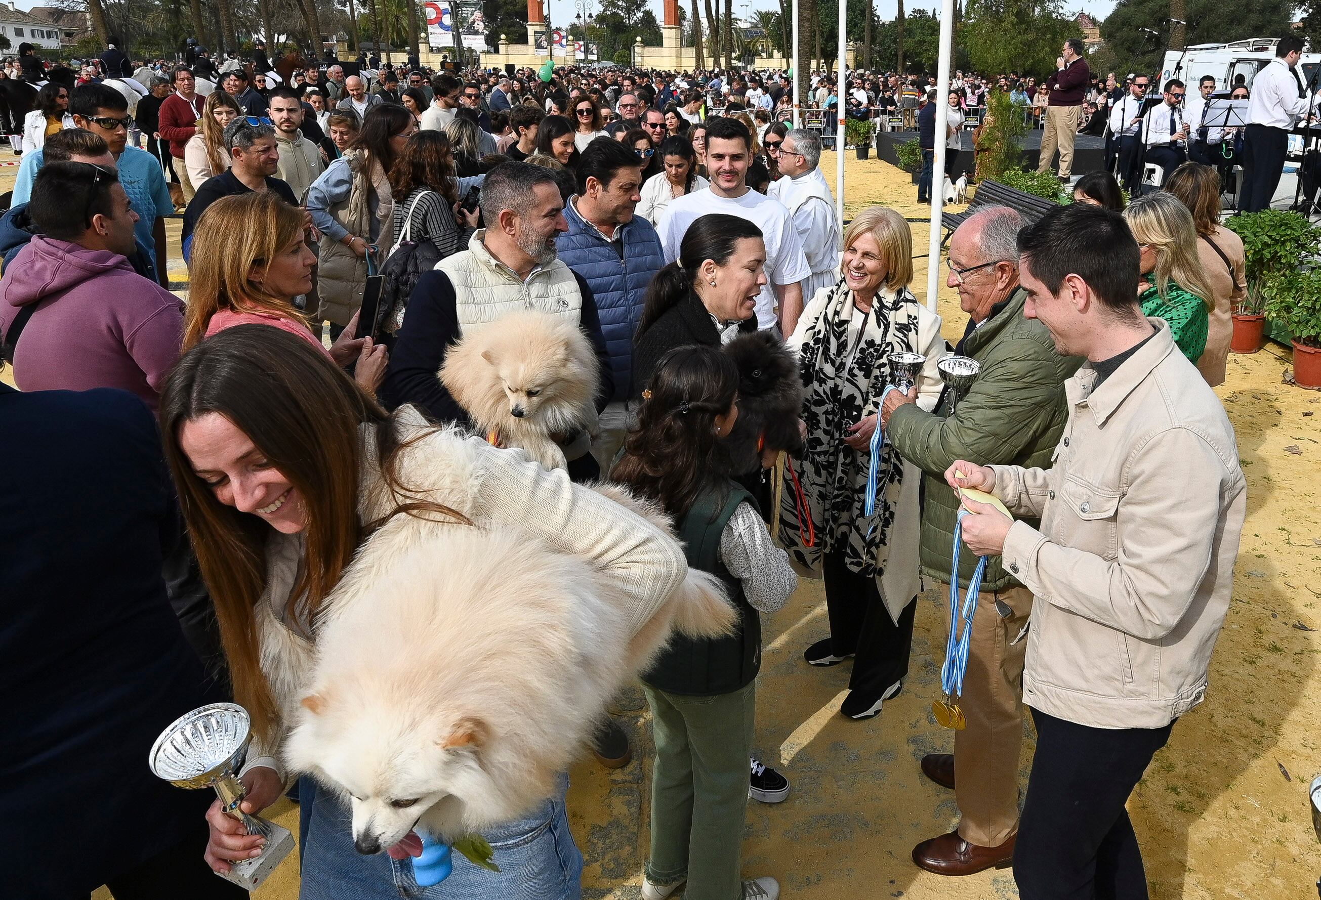
<svg viewBox="0 0 1321 900"><path fill-rule="evenodd" d="M624 259L620 259L614 244L579 215L576 201L573 197L564 207L569 230L555 239L555 245L560 259L592 288L614 372L612 400L627 400L631 396L633 334L642 318L651 276L664 265L664 252L657 230L635 215L616 230L624 241Z"/></svg>

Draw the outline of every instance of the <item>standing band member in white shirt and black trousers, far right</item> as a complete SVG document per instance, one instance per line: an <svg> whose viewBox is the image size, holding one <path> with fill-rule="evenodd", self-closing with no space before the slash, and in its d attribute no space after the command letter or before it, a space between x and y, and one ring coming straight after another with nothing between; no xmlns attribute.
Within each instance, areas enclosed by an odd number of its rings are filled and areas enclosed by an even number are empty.
<svg viewBox="0 0 1321 900"><path fill-rule="evenodd" d="M1256 212L1271 206L1284 172L1289 131L1299 116L1306 115L1312 98L1296 69L1303 55L1303 38L1281 37L1275 59L1252 79L1243 140L1243 190L1239 210Z"/></svg>

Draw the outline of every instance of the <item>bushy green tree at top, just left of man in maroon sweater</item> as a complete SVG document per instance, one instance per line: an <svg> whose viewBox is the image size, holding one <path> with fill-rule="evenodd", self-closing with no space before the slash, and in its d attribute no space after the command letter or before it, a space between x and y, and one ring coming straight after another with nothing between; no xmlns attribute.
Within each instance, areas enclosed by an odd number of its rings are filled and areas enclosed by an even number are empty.
<svg viewBox="0 0 1321 900"><path fill-rule="evenodd" d="M968 0L959 45L976 71L1055 70L1066 38L1082 37L1059 0Z"/></svg>

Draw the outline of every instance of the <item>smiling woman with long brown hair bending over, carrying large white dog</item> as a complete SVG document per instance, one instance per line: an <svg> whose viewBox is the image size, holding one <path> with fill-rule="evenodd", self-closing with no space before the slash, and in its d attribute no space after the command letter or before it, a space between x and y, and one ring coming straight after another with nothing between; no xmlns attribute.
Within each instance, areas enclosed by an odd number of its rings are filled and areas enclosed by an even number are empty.
<svg viewBox="0 0 1321 900"><path fill-rule="evenodd" d="M185 354L162 395L161 426L234 695L252 717L248 813L285 788L280 744L308 693L322 604L366 536L395 515L517 525L610 573L642 623L687 573L662 527L520 453L431 426L411 406L386 413L309 342L269 326L240 325ZM577 897L583 858L567 785L561 776L531 813L483 830L501 872L456 854L453 874L432 891L413 876L415 834L388 854L355 850L343 801L305 777L300 896ZM259 855L262 838L218 805L207 821L214 870Z"/></svg>

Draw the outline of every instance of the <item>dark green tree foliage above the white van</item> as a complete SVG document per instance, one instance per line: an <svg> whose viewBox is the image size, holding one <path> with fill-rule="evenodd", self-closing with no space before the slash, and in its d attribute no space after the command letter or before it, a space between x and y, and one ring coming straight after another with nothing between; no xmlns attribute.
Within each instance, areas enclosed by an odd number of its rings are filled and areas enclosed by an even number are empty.
<svg viewBox="0 0 1321 900"><path fill-rule="evenodd" d="M1178 36L1170 33L1168 24L1161 24L1170 17L1188 20L1190 44L1288 34L1293 17L1293 4L1288 0L1186 0L1186 16L1173 16L1170 0L1119 0L1100 24L1100 36L1115 53L1116 71L1157 71L1166 49L1182 50L1182 45L1174 42ZM1139 30L1143 28L1160 32L1160 40Z"/></svg>

